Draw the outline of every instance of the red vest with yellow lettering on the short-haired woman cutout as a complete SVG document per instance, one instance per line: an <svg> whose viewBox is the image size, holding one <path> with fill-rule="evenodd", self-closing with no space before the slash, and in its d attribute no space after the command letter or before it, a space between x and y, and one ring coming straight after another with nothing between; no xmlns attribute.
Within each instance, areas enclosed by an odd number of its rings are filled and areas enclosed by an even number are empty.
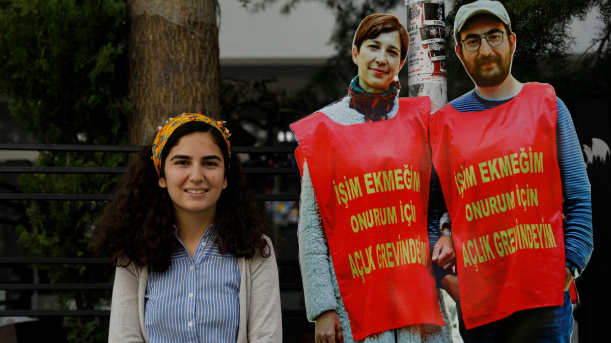
<svg viewBox="0 0 611 343"><path fill-rule="evenodd" d="M429 115L428 98L401 98L389 120L340 125L316 112L291 125L355 340L444 325L426 231Z"/></svg>

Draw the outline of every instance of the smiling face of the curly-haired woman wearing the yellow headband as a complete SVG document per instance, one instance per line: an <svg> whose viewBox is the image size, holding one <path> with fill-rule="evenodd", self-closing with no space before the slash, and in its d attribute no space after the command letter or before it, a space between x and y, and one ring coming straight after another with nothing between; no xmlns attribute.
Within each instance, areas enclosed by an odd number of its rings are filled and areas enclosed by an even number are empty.
<svg viewBox="0 0 611 343"><path fill-rule="evenodd" d="M180 137L167 154L159 187L167 188L178 218L216 214L216 201L227 187L221 148L212 136L194 132Z"/></svg>

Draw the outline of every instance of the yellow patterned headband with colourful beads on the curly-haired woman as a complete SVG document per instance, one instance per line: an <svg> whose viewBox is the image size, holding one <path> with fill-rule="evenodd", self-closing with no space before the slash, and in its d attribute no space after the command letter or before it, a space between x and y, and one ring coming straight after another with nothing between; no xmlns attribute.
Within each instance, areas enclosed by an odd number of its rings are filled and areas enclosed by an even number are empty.
<svg viewBox="0 0 611 343"><path fill-rule="evenodd" d="M163 151L163 147L166 145L167 139L170 138L172 132L178 128L178 126L183 125L184 123L188 123L189 121L203 121L204 123L208 123L214 128L218 129L227 143L227 153L231 156L231 146L229 145L229 137L231 134L229 133L229 129L227 129L227 123L221 120L213 120L212 118L208 118L205 115L202 115L202 112L199 114L195 113L183 113L176 118L169 118L166 120L166 125L159 126L157 128L157 135L155 140L153 141L153 164L155 164L155 170L157 170L157 175L160 175L161 170L161 152Z"/></svg>

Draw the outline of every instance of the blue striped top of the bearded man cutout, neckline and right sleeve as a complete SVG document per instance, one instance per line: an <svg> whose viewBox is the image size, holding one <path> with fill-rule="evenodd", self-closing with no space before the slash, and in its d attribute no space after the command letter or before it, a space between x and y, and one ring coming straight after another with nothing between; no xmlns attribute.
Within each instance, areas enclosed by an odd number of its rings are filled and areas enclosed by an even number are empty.
<svg viewBox="0 0 611 343"><path fill-rule="evenodd" d="M450 102L458 112L478 112L507 103L511 98L492 100L483 98L477 88ZM571 114L565 104L556 98L556 151L562 179L563 214L566 261L580 272L590 260L593 248L592 204L590 181L585 170L584 156Z"/></svg>

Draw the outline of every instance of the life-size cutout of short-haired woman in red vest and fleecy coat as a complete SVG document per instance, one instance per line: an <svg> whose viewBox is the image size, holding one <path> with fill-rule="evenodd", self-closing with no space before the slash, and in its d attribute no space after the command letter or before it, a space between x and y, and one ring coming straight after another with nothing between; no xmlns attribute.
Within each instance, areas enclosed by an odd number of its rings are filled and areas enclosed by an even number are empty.
<svg viewBox="0 0 611 343"><path fill-rule="evenodd" d="M452 341L426 245L439 239L437 262L452 264L452 240L437 228L445 205L435 208L431 105L398 98L408 46L396 16L367 16L354 35L359 73L349 95L291 125L302 173L299 263L316 342Z"/></svg>

